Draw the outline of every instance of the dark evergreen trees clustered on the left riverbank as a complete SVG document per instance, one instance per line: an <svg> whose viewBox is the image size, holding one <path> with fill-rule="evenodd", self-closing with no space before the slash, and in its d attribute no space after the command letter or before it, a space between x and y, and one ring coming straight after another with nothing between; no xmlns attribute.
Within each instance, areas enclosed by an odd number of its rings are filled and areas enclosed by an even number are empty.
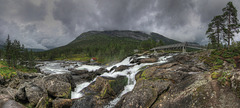
<svg viewBox="0 0 240 108"><path fill-rule="evenodd" d="M6 39L3 49L0 51L0 57L7 62L9 66L26 66L29 68L34 67L34 54L18 40L11 41L10 36Z"/></svg>

